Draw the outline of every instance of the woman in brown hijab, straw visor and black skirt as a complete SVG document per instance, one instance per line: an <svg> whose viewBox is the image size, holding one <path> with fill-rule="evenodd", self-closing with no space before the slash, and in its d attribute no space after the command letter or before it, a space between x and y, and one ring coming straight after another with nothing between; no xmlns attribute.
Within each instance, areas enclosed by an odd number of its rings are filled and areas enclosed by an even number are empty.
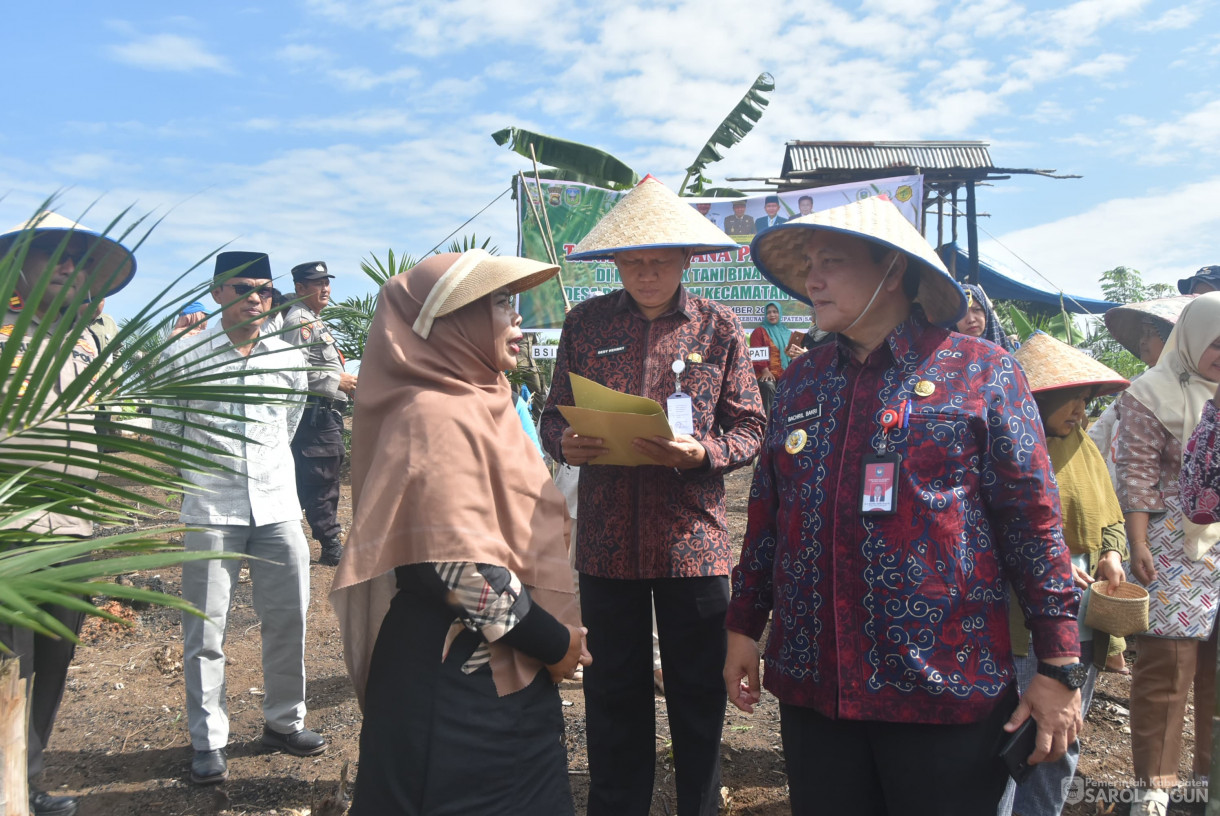
<svg viewBox="0 0 1220 816"><path fill-rule="evenodd" d="M331 603L364 710L351 816L572 814L556 683L589 662L564 496L504 371L554 266L437 255L382 288Z"/></svg>

